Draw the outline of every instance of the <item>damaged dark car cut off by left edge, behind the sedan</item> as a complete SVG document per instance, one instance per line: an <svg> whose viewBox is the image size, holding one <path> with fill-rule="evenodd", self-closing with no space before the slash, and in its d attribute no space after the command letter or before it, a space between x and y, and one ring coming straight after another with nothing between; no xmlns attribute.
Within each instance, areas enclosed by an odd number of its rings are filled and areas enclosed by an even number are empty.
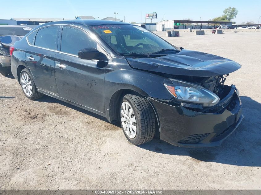
<svg viewBox="0 0 261 195"><path fill-rule="evenodd" d="M0 73L2 75L11 74L10 47L31 30L26 26L0 25Z"/></svg>

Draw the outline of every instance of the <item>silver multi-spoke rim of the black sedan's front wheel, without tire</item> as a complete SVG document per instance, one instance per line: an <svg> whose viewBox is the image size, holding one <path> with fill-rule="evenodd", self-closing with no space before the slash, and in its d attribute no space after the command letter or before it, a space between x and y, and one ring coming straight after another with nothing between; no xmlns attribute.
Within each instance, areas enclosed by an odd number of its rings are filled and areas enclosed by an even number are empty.
<svg viewBox="0 0 261 195"><path fill-rule="evenodd" d="M125 134L133 139L137 134L137 122L131 105L124 101L120 107L120 118Z"/></svg>

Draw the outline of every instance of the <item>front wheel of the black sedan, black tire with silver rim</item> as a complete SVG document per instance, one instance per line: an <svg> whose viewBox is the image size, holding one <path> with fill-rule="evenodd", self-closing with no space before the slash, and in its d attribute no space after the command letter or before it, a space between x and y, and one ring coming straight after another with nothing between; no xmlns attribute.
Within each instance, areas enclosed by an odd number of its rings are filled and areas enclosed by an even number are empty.
<svg viewBox="0 0 261 195"><path fill-rule="evenodd" d="M130 108L124 108L124 105L128 104ZM131 109L133 110L133 114L130 115ZM128 114L129 118L128 116L126 117L126 113ZM120 121L124 135L126 136L127 140L134 145L140 145L149 142L155 135L155 113L149 101L144 97L131 94L125 95L120 104ZM129 124L126 125L127 122ZM136 133L134 131L135 127Z"/></svg>

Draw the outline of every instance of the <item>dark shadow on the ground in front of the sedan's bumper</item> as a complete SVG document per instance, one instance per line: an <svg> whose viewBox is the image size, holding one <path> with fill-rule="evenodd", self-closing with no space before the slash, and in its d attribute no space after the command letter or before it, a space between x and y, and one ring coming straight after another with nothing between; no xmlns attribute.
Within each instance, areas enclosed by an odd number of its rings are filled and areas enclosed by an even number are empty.
<svg viewBox="0 0 261 195"><path fill-rule="evenodd" d="M187 155L198 162L217 162L238 166L261 166L261 104L250 97L240 97L243 104L243 119L239 127L221 146L213 148L181 148L154 138L139 147L169 155Z"/></svg>

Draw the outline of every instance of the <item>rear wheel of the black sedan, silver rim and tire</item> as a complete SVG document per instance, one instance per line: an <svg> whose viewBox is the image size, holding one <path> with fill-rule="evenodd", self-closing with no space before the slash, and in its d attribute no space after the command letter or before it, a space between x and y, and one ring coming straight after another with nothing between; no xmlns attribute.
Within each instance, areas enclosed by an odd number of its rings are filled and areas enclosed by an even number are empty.
<svg viewBox="0 0 261 195"><path fill-rule="evenodd" d="M27 77L29 79L27 79ZM26 84L28 87L23 87L23 86L25 86L25 80L27 80ZM41 98L44 95L37 91L33 76L27 68L23 69L20 73L20 83L21 83L22 91L28 99L36 100L36 99ZM25 90L26 88L29 88L29 90L26 91Z"/></svg>

